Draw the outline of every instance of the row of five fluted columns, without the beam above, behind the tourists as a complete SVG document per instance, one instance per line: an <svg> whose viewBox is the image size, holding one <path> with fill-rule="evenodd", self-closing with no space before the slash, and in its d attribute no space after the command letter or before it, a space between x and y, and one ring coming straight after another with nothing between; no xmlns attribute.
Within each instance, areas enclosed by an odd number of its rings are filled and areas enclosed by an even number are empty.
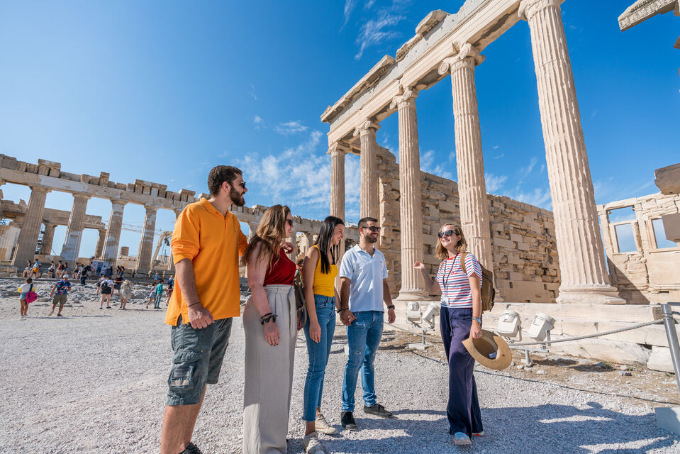
<svg viewBox="0 0 680 454"><path fill-rule="evenodd" d="M557 302L620 304L609 282L593 183L586 155L559 0L523 0L520 17L529 23L538 99L552 196L557 253L562 284ZM493 270L491 231L474 67L484 61L471 44L442 61L440 74L450 74L460 205L460 223L469 251ZM398 112L399 191L401 214L401 290L398 299L426 297L413 262L423 259L418 121L413 87L391 102ZM361 144L361 216L378 217L376 131L366 118L355 129ZM345 218L345 153L331 146L330 214Z"/></svg>

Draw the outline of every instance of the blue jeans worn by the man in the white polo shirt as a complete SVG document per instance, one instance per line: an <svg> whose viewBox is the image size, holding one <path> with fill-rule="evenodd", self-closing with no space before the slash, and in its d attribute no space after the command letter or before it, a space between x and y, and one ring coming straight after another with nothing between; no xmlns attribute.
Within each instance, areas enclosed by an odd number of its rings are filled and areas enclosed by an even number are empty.
<svg viewBox="0 0 680 454"><path fill-rule="evenodd" d="M373 361L382 337L383 315L381 311L354 313L357 319L347 326L347 345L350 358L345 366L342 381L342 411L354 411L354 394L361 369L361 384L364 388L364 405L377 404Z"/></svg>

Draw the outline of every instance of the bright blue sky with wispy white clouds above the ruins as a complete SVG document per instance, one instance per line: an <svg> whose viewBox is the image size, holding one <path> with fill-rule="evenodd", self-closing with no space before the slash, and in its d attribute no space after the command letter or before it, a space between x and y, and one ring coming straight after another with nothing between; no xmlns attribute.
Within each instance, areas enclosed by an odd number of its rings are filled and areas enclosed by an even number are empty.
<svg viewBox="0 0 680 454"><path fill-rule="evenodd" d="M562 4L598 204L657 192L654 169L679 162L680 18L626 32L628 1ZM462 1L2 1L0 153L67 172L206 192L214 165L244 170L252 204L328 214L328 125L319 116L435 9ZM550 209L529 29L492 43L476 68L487 190ZM417 101L423 170L456 179L448 79ZM397 152L397 118L377 140ZM358 218L358 158L347 158L347 218ZM6 184L5 199L26 199ZM69 209L72 197L48 194ZM88 214L108 221L108 201ZM123 221L140 225L143 208ZM157 228L174 214L159 211ZM58 228L59 253L65 228ZM94 252L86 231L81 255ZM138 234L121 245L131 253Z"/></svg>

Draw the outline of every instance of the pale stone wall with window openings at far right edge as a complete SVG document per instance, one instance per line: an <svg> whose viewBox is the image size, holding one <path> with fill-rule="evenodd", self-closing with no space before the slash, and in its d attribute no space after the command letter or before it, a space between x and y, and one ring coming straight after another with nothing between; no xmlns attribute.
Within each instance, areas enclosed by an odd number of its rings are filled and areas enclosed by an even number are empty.
<svg viewBox="0 0 680 454"><path fill-rule="evenodd" d="M610 222L611 211L622 208L632 208L635 219ZM678 194L650 194L598 205L610 279L628 304L680 301L680 247L660 248L652 224L675 213L680 213ZM619 250L617 226L632 228L634 251Z"/></svg>

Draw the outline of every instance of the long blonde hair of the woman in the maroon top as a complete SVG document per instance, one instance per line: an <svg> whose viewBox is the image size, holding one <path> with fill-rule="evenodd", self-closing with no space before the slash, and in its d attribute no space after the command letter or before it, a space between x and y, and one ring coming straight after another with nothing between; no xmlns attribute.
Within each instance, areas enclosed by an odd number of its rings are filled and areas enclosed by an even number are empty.
<svg viewBox="0 0 680 454"><path fill-rule="evenodd" d="M247 248L245 248L241 258L241 266L247 267L248 262L254 260L251 255L257 243L262 243L258 260L264 260L267 263L267 269L277 264L279 248L286 238L286 218L290 212L291 209L285 205L270 206L267 211L264 211L255 235L250 238Z"/></svg>

